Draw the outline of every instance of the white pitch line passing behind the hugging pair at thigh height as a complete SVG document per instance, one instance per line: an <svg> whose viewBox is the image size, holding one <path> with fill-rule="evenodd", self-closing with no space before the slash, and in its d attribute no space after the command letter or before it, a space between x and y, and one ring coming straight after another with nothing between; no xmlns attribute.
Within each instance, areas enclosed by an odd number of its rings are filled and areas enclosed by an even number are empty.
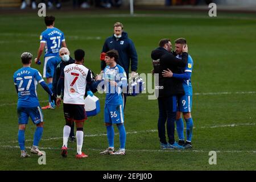
<svg viewBox="0 0 256 182"><path fill-rule="evenodd" d="M200 95L225 95L225 94L255 94L256 92L254 91L250 91L250 92L209 92L209 93L194 93L193 95L195 96L200 96ZM141 96L148 96L148 94L139 94L138 96L136 97L141 97ZM105 97L99 97L99 98L105 98ZM40 103L41 102L48 102L47 101L39 101ZM7 106L7 105L16 105L17 102L15 103L6 103L6 104L0 104L0 106Z"/></svg>

